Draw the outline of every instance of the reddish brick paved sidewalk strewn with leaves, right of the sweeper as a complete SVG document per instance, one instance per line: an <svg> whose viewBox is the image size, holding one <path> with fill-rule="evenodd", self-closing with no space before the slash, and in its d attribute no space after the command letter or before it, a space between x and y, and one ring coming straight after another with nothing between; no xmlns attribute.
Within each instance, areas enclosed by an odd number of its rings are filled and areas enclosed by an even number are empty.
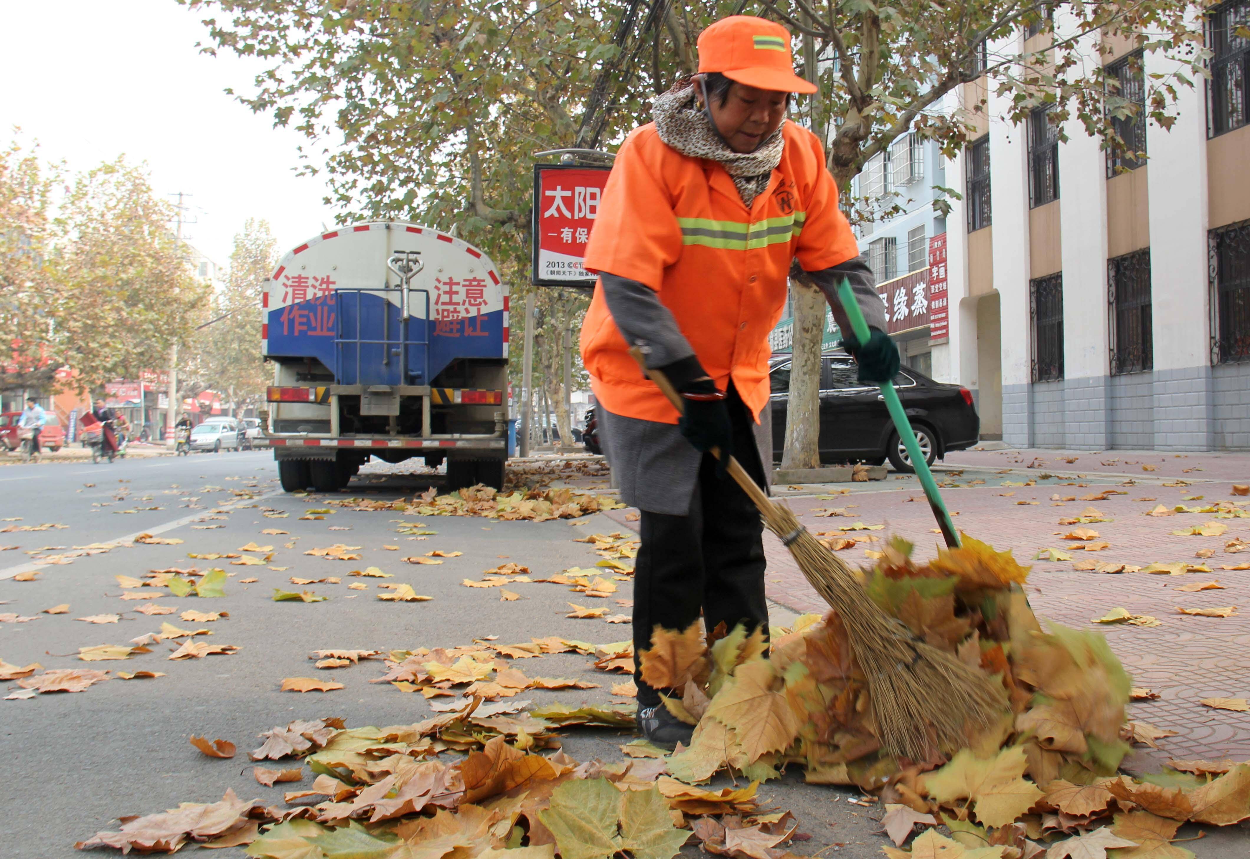
<svg viewBox="0 0 1250 859"><path fill-rule="evenodd" d="M984 456L990 451L976 453ZM1039 453L1055 455L1055 451ZM1085 451L1079 455L1084 460L1089 454ZM1016 560L1032 565L1028 584L1029 599L1042 620L1051 619L1076 629L1105 633L1112 650L1132 675L1134 685L1146 686L1160 695L1159 700L1135 703L1131 706L1131 718L1178 731L1176 736L1159 741L1159 753L1151 753L1159 763L1170 756L1250 759L1250 713L1214 710L1199 704L1202 698L1250 698L1250 570L1220 569L1221 565L1250 563L1250 549L1240 554L1224 551L1225 544L1234 538L1250 541L1250 519L1216 519L1212 514L1200 513L1144 515L1159 504L1171 509L1178 504L1202 506L1218 500L1250 501L1231 495L1230 483L1208 483L1216 475L1228 479L1226 475L1232 471L1228 464L1218 468L1215 456L1218 455L1191 455L1189 464L1182 466L1191 468L1192 461L1198 460L1205 469L1202 473L1184 474L1181 468L1176 469L1178 474L1174 476L1204 480L1188 486L1160 485L1158 478L1168 476L1161 474L1161 465L1160 473L1149 475L1152 480L1150 484L1121 486L1102 478L1089 486L1079 485L1084 481L1074 481L1078 485L1048 483L1004 486L995 484L1021 483L1028 475L1016 473L986 478L981 473L976 476L986 479L986 485L942 490L950 510L959 513L955 518L959 529L1000 550L1011 549ZM1109 460L1112 456L1104 454L1102 458ZM1162 455L1156 454L1155 461L1161 458ZM1091 459L1096 461L1098 458ZM1250 461L1246 455L1239 455L1238 459ZM1185 460L1178 460L1182 461ZM1250 468L1238 468L1234 474L1250 475ZM962 480L971 476L969 474ZM1106 500L1079 500L1082 495L1104 489L1121 489L1128 494L1111 495ZM1056 494L1060 498L1075 496L1078 500L1054 501L1052 496ZM1202 495L1204 500L1185 500L1195 495ZM1036 504L1020 504L1021 501ZM940 538L934 533L929 505L915 489L894 489L884 484L878 491L856 491L834 499L792 498L788 503L814 531L831 531L839 525L862 521L885 528L880 531L856 531L858 534L871 534L879 540L899 534L916 544L918 559L931 558L938 550ZM1112 521L1078 526L1096 530L1100 540L1110 543L1110 546L1102 551L1071 551L1079 544L1061 538L1074 526L1059 525L1059 519L1075 518L1090 506L1106 514ZM814 515L821 509L839 508L845 509L844 516ZM1242 504L1241 508L1250 509L1250 504ZM625 513L614 510L611 515L622 525L636 529L636 523L628 521ZM1172 530L1208 521L1224 524L1228 531L1221 536L1171 534ZM872 546L880 548L880 543L862 544L842 551L841 556L852 564L868 565L870 561L864 555L864 548ZM1072 561L1031 560L1045 546L1071 551ZM1199 549L1211 549L1214 555L1208 559L1196 558ZM808 585L790 554L771 534L765 534L765 550L769 559L769 595L774 600L799 611L821 611L826 608ZM1080 560L1136 566L1156 561L1205 563L1212 571L1110 575L1075 570L1074 563ZM1176 590L1180 585L1211 580L1219 580L1224 589L1196 593ZM1176 610L1178 606L1228 605L1239 606L1239 614L1208 618L1182 615ZM1091 618L1101 616L1118 606L1132 614L1152 615L1160 620L1160 625L1142 628L1090 623Z"/></svg>

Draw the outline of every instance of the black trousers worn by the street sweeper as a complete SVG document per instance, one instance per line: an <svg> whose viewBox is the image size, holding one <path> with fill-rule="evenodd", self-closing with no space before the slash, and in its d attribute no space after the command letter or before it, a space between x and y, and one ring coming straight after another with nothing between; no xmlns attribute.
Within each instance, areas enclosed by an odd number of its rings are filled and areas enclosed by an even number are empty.
<svg viewBox="0 0 1250 859"><path fill-rule="evenodd" d="M730 385L729 413L734 455L764 485L752 420ZM690 514L671 516L641 511L641 544L634 565L634 683L639 706L660 703L660 690L642 683L639 654L651 646L655 626L684 630L702 611L709 631L725 623L768 633L764 598L764 524L760 513L730 476L718 476L716 460L705 454Z"/></svg>

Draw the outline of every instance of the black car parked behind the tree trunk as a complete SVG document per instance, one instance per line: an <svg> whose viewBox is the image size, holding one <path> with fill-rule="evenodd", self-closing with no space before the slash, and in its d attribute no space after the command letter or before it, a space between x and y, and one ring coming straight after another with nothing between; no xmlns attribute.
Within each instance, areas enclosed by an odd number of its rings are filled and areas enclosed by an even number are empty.
<svg viewBox="0 0 1250 859"><path fill-rule="evenodd" d="M911 471L911 458L894 431L880 388L865 386L856 380L855 360L850 355L830 351L822 358L820 461L881 465L889 459L895 470ZM781 461L790 399L790 355L774 355L770 373L772 459ZM894 385L930 465L949 450L964 450L976 444L981 419L966 388L934 381L909 366L894 378Z"/></svg>

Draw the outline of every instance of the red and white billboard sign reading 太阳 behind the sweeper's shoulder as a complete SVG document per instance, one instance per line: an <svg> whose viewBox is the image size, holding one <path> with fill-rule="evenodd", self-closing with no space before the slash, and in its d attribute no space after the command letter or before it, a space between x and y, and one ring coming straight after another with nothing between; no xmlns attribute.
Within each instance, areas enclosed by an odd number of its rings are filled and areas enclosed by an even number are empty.
<svg viewBox="0 0 1250 859"><path fill-rule="evenodd" d="M591 286L581 268L611 168L534 165L531 279L540 286Z"/></svg>

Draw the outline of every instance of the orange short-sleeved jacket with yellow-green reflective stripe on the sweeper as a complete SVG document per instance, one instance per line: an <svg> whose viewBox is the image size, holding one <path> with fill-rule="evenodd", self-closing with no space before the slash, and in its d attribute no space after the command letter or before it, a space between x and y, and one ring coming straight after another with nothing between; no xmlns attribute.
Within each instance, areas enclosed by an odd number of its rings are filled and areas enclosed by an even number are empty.
<svg viewBox="0 0 1250 859"><path fill-rule="evenodd" d="M612 165L585 266L660 294L721 390L732 378L758 415L769 399L769 333L781 318L795 258L808 271L859 254L838 208L820 141L786 123L781 163L750 210L718 161L681 155L655 124L630 134ZM630 358L602 285L581 328L581 356L609 411L666 424L676 410Z"/></svg>

